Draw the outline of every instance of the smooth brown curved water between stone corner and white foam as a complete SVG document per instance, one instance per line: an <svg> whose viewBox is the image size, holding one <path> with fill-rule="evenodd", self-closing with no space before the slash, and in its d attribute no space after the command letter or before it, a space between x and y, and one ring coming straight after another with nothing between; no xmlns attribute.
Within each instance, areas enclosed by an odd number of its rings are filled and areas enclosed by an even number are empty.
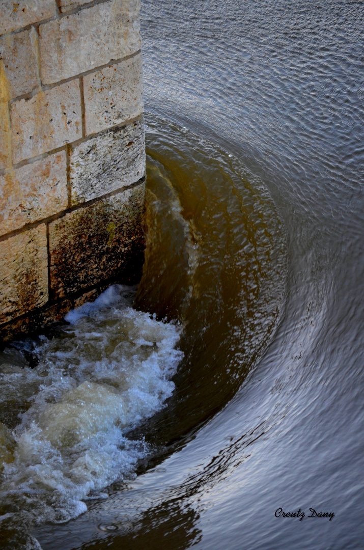
<svg viewBox="0 0 364 550"><path fill-rule="evenodd" d="M183 323L177 390L147 436L167 444L227 403L269 342L283 305L285 233L266 189L231 155L157 118L147 130L136 306Z"/></svg>

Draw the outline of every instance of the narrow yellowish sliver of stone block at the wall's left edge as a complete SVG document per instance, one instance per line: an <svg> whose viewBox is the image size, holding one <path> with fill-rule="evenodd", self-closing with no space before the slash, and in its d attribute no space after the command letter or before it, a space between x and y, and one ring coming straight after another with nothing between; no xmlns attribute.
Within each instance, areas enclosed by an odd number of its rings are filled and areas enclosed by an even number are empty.
<svg viewBox="0 0 364 550"><path fill-rule="evenodd" d="M9 81L5 75L5 68L0 59L0 170L10 168L12 164L12 133L9 118Z"/></svg>

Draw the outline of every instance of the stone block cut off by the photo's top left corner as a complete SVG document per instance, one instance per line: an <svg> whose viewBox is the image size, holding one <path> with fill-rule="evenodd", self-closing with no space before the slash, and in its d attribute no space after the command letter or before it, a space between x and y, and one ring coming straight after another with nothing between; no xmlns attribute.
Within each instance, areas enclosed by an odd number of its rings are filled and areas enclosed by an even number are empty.
<svg viewBox="0 0 364 550"><path fill-rule="evenodd" d="M54 0L0 0L0 35L54 15Z"/></svg>

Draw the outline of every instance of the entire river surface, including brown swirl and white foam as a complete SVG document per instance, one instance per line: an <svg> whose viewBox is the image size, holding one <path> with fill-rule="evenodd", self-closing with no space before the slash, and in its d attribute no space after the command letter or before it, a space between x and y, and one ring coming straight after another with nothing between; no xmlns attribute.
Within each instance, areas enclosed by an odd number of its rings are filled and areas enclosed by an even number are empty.
<svg viewBox="0 0 364 550"><path fill-rule="evenodd" d="M4 547L363 547L363 8L142 2L144 274L3 352Z"/></svg>

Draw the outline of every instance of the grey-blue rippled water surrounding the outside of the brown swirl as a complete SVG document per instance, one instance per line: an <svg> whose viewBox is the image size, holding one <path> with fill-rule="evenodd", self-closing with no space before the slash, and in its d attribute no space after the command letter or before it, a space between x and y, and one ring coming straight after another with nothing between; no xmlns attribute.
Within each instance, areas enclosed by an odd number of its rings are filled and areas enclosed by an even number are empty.
<svg viewBox="0 0 364 550"><path fill-rule="evenodd" d="M156 455L150 467L141 464L134 480L109 487L108 498L87 501L87 513L74 521L38 528L44 550L159 549L161 540L171 550L361 548L362 17L360 0L142 3L146 111L217 144L214 151L242 160L243 172L268 189L286 233L285 305L250 376L236 361L242 387L234 397L226 403L217 395L220 408L209 417L205 402L199 429L189 432L198 400L189 404L181 380L185 414L178 390L164 409L181 411L175 426L162 409L154 417L158 429L146 421L130 434L150 434ZM186 246L187 275L173 262L167 269L187 296L174 301L183 311L194 299L197 239L186 242L194 226L187 210L186 223L181 220L184 206L170 189L173 166L166 171L150 157L150 170L174 205L169 223L179 249ZM158 197L153 201L157 208ZM173 257L173 246L161 246ZM163 301L156 288L153 300ZM188 354L183 361L191 380ZM213 356L209 365L214 371ZM198 394L197 372L195 381ZM213 382L207 387L219 388ZM301 508L306 516L277 518L280 507ZM335 516L308 518L310 508Z"/></svg>

